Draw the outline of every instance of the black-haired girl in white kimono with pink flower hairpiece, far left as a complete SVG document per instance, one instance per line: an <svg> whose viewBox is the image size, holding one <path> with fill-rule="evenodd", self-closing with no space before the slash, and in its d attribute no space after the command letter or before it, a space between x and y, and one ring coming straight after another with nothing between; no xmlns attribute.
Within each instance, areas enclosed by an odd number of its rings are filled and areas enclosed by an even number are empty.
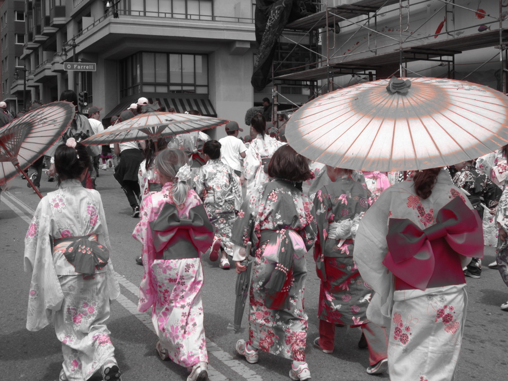
<svg viewBox="0 0 508 381"><path fill-rule="evenodd" d="M24 267L32 273L26 328L38 331L52 322L62 343L59 381L97 372L120 380L106 327L110 300L119 295L106 217L99 192L81 185L90 157L69 138L54 160L59 187L41 199L25 237Z"/></svg>

